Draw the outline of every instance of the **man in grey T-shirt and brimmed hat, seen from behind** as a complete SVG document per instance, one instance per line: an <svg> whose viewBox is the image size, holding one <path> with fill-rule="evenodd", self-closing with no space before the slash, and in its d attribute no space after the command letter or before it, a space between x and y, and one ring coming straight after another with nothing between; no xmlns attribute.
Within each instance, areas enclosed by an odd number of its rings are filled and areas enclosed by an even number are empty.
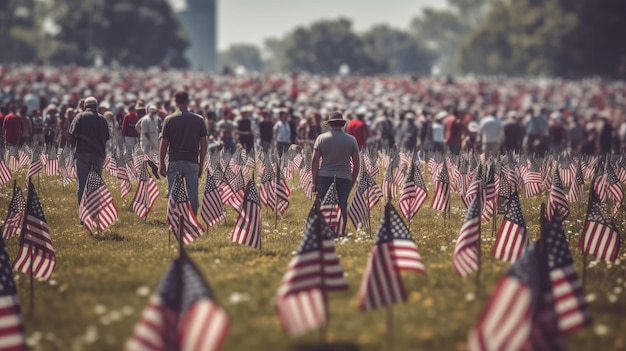
<svg viewBox="0 0 626 351"><path fill-rule="evenodd" d="M325 124L329 131L320 134L313 145L313 159L311 160L311 175L313 180L312 191L322 201L330 186L335 183L339 196L339 207L343 217L344 228L348 219L348 196L361 168L359 146L356 139L343 132L346 124L339 111L328 114ZM321 165L320 165L321 158ZM352 160L352 171L350 170ZM344 228L339 231L342 234Z"/></svg>

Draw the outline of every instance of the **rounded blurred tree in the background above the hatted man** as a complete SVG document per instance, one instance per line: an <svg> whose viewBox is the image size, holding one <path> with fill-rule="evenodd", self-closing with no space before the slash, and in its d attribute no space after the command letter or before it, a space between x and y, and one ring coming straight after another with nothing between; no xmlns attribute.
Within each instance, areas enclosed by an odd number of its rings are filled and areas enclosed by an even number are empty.
<svg viewBox="0 0 626 351"><path fill-rule="evenodd" d="M323 20L310 27L298 27L287 35L283 69L336 74L342 64L351 72L376 74L387 70L387 62L369 52L345 18Z"/></svg>

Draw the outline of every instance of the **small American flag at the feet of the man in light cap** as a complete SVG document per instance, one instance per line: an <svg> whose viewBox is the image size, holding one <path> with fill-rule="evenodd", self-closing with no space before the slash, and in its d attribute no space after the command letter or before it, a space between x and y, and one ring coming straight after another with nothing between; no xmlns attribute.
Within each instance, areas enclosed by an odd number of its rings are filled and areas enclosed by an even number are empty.
<svg viewBox="0 0 626 351"><path fill-rule="evenodd" d="M87 185L78 206L80 220L90 233L104 231L117 220L117 208L102 177L95 171L87 175Z"/></svg>

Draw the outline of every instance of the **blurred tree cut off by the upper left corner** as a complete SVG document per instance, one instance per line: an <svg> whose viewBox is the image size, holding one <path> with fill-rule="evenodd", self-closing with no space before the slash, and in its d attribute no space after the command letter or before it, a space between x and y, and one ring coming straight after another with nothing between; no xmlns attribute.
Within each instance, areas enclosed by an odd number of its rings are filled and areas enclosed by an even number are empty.
<svg viewBox="0 0 626 351"><path fill-rule="evenodd" d="M39 23L34 11L34 0L0 0L0 62L37 58Z"/></svg>

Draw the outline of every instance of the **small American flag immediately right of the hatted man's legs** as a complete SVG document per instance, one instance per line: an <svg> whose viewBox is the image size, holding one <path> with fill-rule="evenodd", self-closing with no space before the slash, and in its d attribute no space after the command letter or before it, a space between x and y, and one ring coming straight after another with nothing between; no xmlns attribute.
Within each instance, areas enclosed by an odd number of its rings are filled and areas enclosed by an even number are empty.
<svg viewBox="0 0 626 351"><path fill-rule="evenodd" d="M382 190L369 175L367 170L361 168L356 193L348 207L348 217L355 228L370 227L370 210L376 206L382 197Z"/></svg>

